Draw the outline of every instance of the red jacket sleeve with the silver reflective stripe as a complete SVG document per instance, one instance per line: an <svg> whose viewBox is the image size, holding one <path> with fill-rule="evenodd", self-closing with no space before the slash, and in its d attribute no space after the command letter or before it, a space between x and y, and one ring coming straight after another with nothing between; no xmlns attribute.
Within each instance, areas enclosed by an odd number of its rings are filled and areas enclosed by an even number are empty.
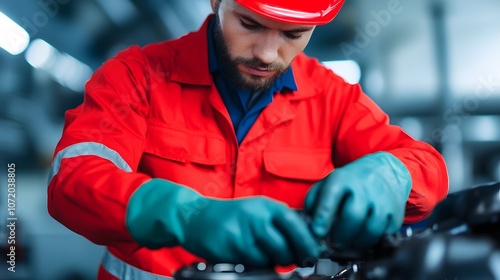
<svg viewBox="0 0 500 280"><path fill-rule="evenodd" d="M50 215L100 245L132 242L127 202L150 178L137 172L146 133L145 59L137 47L103 64L83 103L65 115L48 178Z"/></svg>

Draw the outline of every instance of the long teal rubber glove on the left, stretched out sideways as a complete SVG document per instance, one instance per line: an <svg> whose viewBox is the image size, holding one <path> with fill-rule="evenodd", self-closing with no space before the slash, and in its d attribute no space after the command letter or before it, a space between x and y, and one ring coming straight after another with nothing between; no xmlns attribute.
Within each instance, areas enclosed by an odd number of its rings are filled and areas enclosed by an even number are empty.
<svg viewBox="0 0 500 280"><path fill-rule="evenodd" d="M319 254L306 222L285 204L263 197L210 199L161 179L132 195L126 223L145 247L179 245L209 263L303 265Z"/></svg>

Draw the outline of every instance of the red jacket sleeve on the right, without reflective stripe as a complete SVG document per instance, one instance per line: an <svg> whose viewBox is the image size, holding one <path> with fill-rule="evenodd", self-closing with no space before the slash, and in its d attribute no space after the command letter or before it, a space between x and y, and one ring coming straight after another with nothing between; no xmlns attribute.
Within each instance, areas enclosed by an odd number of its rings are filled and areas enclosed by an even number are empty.
<svg viewBox="0 0 500 280"><path fill-rule="evenodd" d="M334 143L334 164L342 166L365 154L386 151L396 156L411 174L412 189L406 204L405 223L428 217L448 193L448 172L443 157L429 144L390 125L389 117L359 85L348 85Z"/></svg>

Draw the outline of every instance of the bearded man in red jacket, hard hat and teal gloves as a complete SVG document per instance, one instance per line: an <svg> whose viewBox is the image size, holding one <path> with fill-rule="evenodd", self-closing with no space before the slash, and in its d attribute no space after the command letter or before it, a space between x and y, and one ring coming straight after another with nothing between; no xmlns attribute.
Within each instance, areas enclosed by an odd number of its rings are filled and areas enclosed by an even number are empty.
<svg viewBox="0 0 500 280"><path fill-rule="evenodd" d="M48 208L107 247L99 279L302 266L316 237L368 248L430 214L442 157L302 53L343 2L211 0L199 31L96 71L66 114Z"/></svg>

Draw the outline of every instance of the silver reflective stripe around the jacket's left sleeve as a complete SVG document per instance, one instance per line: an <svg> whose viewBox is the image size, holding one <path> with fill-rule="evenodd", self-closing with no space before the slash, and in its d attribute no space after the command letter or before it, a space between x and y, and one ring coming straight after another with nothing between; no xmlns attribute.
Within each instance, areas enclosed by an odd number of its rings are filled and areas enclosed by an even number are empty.
<svg viewBox="0 0 500 280"><path fill-rule="evenodd" d="M54 176L56 176L56 174L59 172L63 159L89 155L107 159L118 168L127 172L132 172L132 168L130 168L128 163L115 150L112 150L101 143L82 142L68 146L57 153L54 161L52 162L49 173L49 180L47 183L50 183L50 181L52 181L52 178L54 178Z"/></svg>

